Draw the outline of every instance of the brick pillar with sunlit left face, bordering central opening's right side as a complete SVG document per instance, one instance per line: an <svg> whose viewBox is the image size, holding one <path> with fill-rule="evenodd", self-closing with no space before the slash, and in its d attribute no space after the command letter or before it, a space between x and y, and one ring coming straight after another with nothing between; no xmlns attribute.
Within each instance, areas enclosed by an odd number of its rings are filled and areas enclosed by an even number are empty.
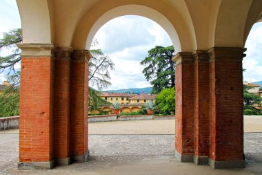
<svg viewBox="0 0 262 175"><path fill-rule="evenodd" d="M178 53L176 62L176 134L174 156L181 162L193 161L194 155L194 57Z"/></svg>

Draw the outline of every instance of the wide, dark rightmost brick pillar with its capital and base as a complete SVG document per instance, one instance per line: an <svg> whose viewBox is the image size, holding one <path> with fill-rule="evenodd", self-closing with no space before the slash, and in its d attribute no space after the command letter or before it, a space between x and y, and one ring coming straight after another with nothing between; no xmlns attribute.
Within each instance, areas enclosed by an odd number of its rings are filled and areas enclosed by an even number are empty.
<svg viewBox="0 0 262 175"><path fill-rule="evenodd" d="M245 167L243 160L243 48L211 48L210 159L214 168Z"/></svg>

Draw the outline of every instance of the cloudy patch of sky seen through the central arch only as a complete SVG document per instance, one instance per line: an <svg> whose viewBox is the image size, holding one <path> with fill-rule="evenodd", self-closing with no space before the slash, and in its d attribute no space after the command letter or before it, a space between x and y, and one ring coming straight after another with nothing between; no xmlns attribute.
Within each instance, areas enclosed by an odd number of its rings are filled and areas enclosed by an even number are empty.
<svg viewBox="0 0 262 175"><path fill-rule="evenodd" d="M115 71L110 72L112 86L108 89L151 86L145 80L142 73L144 66L140 62L154 46L172 44L159 24L133 15L112 19L99 29L94 38L115 64Z"/></svg>

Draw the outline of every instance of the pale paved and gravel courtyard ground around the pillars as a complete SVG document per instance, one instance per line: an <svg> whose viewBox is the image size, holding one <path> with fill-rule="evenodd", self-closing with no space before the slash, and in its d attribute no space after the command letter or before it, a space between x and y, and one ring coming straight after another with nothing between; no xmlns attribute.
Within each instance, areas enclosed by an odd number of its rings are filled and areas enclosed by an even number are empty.
<svg viewBox="0 0 262 175"><path fill-rule="evenodd" d="M87 163L73 163L50 170L17 170L19 130L0 131L0 174L262 175L262 116L260 117L245 117L245 169L214 170L208 165L179 163L172 156L174 120L141 120L90 123L90 160ZM252 127L252 123L256 124L257 129Z"/></svg>

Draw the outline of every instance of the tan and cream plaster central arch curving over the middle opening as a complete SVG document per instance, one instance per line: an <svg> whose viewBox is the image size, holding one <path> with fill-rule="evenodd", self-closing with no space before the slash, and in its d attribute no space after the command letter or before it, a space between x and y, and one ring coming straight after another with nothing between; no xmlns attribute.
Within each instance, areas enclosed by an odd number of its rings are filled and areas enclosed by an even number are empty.
<svg viewBox="0 0 262 175"><path fill-rule="evenodd" d="M182 3L183 13L163 1L148 3L147 1L113 1L111 6L104 7L98 3L79 21L72 39L72 47L77 49L89 48L97 30L110 19L123 15L140 15L156 21L170 35L175 51L192 51L196 49L194 27L188 8ZM101 7L102 6L102 7ZM85 21L88 21L86 23ZM87 39L87 40L86 40Z"/></svg>

